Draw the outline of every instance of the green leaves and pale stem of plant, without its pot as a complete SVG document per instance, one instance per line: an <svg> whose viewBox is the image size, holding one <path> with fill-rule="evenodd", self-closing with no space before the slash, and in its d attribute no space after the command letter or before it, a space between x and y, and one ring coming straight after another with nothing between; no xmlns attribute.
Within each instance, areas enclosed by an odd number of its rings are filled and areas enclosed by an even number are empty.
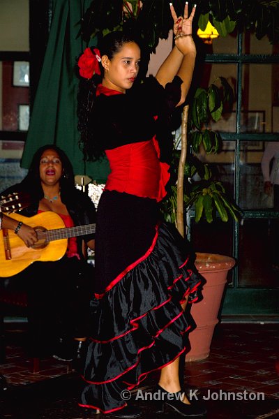
<svg viewBox="0 0 279 419"><path fill-rule="evenodd" d="M220 151L220 134L211 130L210 122L217 122L232 107L233 98L232 87L219 77L207 89L197 88L190 106L183 108L181 135L174 143L173 155L177 182L162 207L166 221L175 223L183 236L184 216L193 205L196 222L204 216L211 223L214 214L222 221L228 221L229 215L235 221L239 219L240 210L227 196L223 184L212 179L209 164L198 158L201 147L206 154Z"/></svg>

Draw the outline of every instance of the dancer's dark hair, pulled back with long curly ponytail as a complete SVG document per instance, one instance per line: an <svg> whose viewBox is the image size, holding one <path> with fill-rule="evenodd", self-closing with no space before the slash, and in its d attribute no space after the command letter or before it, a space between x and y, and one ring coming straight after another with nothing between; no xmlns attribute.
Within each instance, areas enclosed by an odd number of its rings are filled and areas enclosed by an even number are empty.
<svg viewBox="0 0 279 419"><path fill-rule="evenodd" d="M110 32L100 40L98 45L100 55L107 55L111 60L116 53L121 51L123 45L131 42L137 43L140 49L142 49L142 42L133 31L130 34L125 31ZM93 47L91 47L91 50L93 52ZM86 161L97 161L104 156L103 150L100 150L98 145L94 143L93 124L90 123L93 103L96 98L96 87L102 81L104 73L104 68L101 64L100 72L100 75L95 74L89 80L80 77L79 91L77 94L77 129L80 131L79 145Z"/></svg>

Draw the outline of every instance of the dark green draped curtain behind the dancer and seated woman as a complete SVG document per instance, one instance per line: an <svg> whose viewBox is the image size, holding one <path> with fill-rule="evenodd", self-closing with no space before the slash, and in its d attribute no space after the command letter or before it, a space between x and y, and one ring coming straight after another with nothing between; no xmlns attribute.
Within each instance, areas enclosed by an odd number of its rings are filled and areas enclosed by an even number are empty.
<svg viewBox="0 0 279 419"><path fill-rule="evenodd" d="M21 166L29 168L38 147L53 143L67 153L75 175L88 175L96 182L103 183L110 172L107 159L84 163L78 145L78 78L75 75L75 63L86 45L77 34L80 19L90 3L91 0L53 1L50 37Z"/></svg>

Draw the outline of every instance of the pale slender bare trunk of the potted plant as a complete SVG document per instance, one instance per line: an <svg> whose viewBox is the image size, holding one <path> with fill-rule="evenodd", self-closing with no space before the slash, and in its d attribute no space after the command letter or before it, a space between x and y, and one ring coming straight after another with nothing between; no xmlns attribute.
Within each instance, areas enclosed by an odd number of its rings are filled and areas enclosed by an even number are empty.
<svg viewBox="0 0 279 419"><path fill-rule="evenodd" d="M185 105L181 119L181 154L179 159L179 171L177 177L177 229L182 237L185 236L184 221L184 168L187 157L187 122L188 122L189 105Z"/></svg>

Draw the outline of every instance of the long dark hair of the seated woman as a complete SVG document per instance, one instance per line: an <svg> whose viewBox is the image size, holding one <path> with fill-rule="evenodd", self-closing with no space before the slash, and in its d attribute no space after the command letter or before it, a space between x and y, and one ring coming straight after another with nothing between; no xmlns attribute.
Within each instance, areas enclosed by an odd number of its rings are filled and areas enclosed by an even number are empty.
<svg viewBox="0 0 279 419"><path fill-rule="evenodd" d="M38 200L44 196L43 188L40 181L40 159L45 150L54 150L58 155L62 163L62 176L59 180L61 200L65 202L65 198L70 194L70 191L75 189L75 176L73 172L73 166L68 159L68 156L62 149L54 144L47 144L40 147L33 155L29 171L21 182L22 189L31 193L32 198Z"/></svg>

